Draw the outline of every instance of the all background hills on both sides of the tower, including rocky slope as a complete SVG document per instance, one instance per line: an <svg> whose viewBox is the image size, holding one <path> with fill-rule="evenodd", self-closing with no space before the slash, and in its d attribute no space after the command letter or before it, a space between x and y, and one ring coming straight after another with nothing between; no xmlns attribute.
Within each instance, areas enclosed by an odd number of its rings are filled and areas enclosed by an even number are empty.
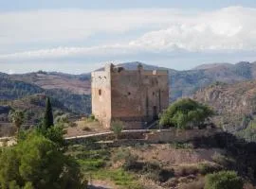
<svg viewBox="0 0 256 189"><path fill-rule="evenodd" d="M119 66L135 70L139 63L126 62ZM256 120L256 62L213 63L187 71L141 64L146 70L168 70L170 101L191 96L209 104L217 112L213 122L218 126L239 130L241 127L245 129L243 123L245 117L249 116ZM24 110L29 116L36 114L31 116L30 121L33 122L32 120L39 120L41 115L37 114L42 114L44 111L45 98L42 96L46 95L51 97L54 111L88 114L91 112L90 73L82 75L44 71L19 75L0 73L0 108L9 106ZM40 113L33 113L32 109ZM3 118L8 119L7 113ZM250 133L248 133L249 137Z"/></svg>

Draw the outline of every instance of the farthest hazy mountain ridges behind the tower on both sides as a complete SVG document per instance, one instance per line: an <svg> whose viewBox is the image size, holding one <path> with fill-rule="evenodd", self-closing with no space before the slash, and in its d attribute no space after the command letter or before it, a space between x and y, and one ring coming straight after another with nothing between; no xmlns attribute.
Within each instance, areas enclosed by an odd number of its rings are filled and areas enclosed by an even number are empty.
<svg viewBox="0 0 256 189"><path fill-rule="evenodd" d="M137 69L135 62L119 64L125 69ZM236 64L213 63L195 67L192 70L177 71L174 69L158 67L141 63L144 69L166 69L169 70L170 96L175 100L181 96L190 96L197 90L204 88L215 81L235 83L256 78L256 62L241 61ZM102 68L100 68L102 69ZM73 94L90 94L90 74L70 75L58 72L39 71L36 73L6 75L10 80L19 80L37 85L43 89L63 89Z"/></svg>

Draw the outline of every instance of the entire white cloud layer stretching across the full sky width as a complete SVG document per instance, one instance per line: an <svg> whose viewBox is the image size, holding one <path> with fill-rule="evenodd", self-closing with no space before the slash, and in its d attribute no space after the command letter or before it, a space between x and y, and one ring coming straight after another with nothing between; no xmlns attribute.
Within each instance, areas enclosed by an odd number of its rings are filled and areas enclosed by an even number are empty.
<svg viewBox="0 0 256 189"><path fill-rule="evenodd" d="M178 9L41 10L0 14L0 46L25 41L82 40L145 29L128 43L58 47L0 55L0 60L109 57L157 52L232 52L256 49L256 9L230 7L210 12ZM100 35L100 34L99 34ZM1 36L3 36L1 38ZM6 37L5 37L6 36Z"/></svg>

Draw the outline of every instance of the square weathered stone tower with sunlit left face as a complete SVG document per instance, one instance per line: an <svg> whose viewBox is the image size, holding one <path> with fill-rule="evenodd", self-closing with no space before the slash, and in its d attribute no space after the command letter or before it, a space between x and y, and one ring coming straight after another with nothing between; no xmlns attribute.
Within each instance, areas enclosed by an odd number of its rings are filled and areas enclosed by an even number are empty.
<svg viewBox="0 0 256 189"><path fill-rule="evenodd" d="M143 129L169 105L167 70L125 70L113 64L96 71L92 78L92 113L109 128L113 120L125 129Z"/></svg>

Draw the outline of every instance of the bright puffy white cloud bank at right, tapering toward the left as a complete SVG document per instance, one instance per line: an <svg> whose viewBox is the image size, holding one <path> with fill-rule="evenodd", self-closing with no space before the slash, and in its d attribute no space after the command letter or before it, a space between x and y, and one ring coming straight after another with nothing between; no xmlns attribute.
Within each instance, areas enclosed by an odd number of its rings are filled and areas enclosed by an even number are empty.
<svg viewBox="0 0 256 189"><path fill-rule="evenodd" d="M256 9L240 7L202 13L192 22L148 32L130 44L155 50L255 50L255 17Z"/></svg>

